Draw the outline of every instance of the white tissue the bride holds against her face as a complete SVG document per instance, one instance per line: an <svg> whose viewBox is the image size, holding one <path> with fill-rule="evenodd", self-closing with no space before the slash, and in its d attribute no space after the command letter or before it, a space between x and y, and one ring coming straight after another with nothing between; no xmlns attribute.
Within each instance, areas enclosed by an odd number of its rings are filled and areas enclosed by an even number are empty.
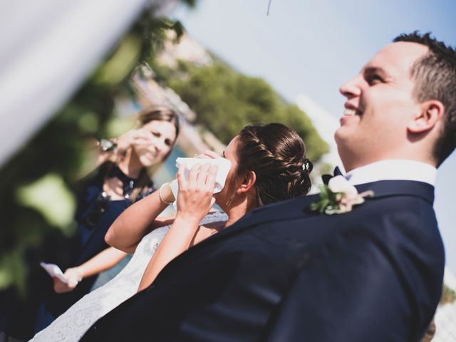
<svg viewBox="0 0 456 342"><path fill-rule="evenodd" d="M218 165L219 170L217 170L217 176L215 177L215 185L214 185L214 194L217 192L221 192L223 187L225 186L225 180L227 180L227 175L229 169L231 169L231 162L226 158L177 158L176 159L176 167L180 169L180 167L185 167L184 170L184 177L185 180L188 180L188 176L190 175L190 169L193 165L197 164L205 164L209 162L212 165ZM179 185L177 185L177 180L173 180L170 184L172 195L174 198L177 199L177 192L179 192Z"/></svg>

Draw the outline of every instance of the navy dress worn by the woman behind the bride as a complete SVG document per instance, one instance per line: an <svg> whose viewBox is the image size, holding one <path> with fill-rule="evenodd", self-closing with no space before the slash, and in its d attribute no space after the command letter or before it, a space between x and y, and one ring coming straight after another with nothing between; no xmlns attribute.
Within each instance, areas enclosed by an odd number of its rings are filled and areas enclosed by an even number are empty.
<svg viewBox="0 0 456 342"><path fill-rule="evenodd" d="M145 172L145 171L144 171ZM106 177L118 177L123 182L123 199L113 199L103 191ZM88 261L96 254L108 248L105 234L115 219L132 203L130 194L138 180L125 175L112 162L106 162L98 167L95 175L83 181L82 191L78 195L76 222L78 225L76 237L71 243L71 257L68 264L59 264L64 271L68 267L78 266ZM147 184L136 200L149 195L155 188L152 181ZM56 262L45 260L46 262ZM38 305L36 321L33 323L33 334L46 328L54 319L63 314L70 306L90 292L97 275L83 279L76 289L65 294L56 294L52 286L43 294L43 300ZM49 286L48 286L49 287ZM33 334L31 336L33 336ZM31 337L30 336L30 337Z"/></svg>

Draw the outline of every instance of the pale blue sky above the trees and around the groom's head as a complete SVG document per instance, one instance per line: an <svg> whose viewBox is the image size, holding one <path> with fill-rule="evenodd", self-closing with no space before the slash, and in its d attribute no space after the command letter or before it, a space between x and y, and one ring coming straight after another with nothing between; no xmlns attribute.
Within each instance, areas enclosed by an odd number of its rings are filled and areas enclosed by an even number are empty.
<svg viewBox="0 0 456 342"><path fill-rule="evenodd" d="M456 46L455 0L199 0L177 19L197 41L250 76L268 81L287 100L306 94L336 118L338 88L400 33L432 31ZM456 272L456 153L439 169L435 210Z"/></svg>

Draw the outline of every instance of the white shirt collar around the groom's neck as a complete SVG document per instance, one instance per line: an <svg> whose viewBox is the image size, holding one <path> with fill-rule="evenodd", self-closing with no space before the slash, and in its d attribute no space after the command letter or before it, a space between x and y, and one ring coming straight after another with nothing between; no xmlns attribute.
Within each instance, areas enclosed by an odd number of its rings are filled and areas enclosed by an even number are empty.
<svg viewBox="0 0 456 342"><path fill-rule="evenodd" d="M378 180L415 180L435 185L437 169L415 160L380 160L347 172L351 184L358 185Z"/></svg>

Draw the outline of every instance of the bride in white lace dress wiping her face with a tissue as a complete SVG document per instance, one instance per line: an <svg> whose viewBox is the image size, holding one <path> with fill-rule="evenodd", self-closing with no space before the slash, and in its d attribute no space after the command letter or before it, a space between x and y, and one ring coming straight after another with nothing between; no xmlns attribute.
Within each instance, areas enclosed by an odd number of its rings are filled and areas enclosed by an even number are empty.
<svg viewBox="0 0 456 342"><path fill-rule="evenodd" d="M201 157L219 156L207 151ZM202 160L192 167L188 180L180 170L175 219L157 219L174 199L169 183L126 209L105 239L124 252L134 252L128 265L31 341L78 341L98 318L147 287L168 262L186 249L229 227L255 207L304 196L310 190L312 165L306 159L304 142L285 125L270 123L243 128L229 142L223 157L232 167L224 188L214 198L226 214L207 214L213 204L217 167Z"/></svg>

